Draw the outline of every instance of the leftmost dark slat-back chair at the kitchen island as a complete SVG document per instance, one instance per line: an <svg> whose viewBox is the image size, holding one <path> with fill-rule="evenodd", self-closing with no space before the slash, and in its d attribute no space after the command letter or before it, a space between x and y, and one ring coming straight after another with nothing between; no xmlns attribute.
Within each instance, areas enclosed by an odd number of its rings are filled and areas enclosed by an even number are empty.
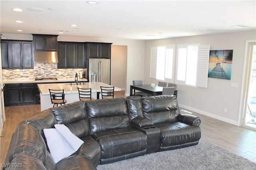
<svg viewBox="0 0 256 170"><path fill-rule="evenodd" d="M50 92L50 98L51 98L51 102L53 104L53 107L55 105L62 105L62 104L66 104L67 100L65 99L65 94L64 94L64 89L62 90L52 90L49 88L49 92Z"/></svg>

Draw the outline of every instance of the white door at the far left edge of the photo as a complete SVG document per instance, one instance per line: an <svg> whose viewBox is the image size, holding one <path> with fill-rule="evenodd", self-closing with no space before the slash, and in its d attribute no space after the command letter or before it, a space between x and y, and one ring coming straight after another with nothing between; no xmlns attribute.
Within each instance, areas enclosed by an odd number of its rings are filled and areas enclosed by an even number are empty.
<svg viewBox="0 0 256 170"><path fill-rule="evenodd" d="M0 45L0 51L1 51L1 45ZM4 86L3 86L3 80L2 80L2 59L1 59L1 53L0 53L0 135L3 131L3 125L5 121L5 114L4 114Z"/></svg>

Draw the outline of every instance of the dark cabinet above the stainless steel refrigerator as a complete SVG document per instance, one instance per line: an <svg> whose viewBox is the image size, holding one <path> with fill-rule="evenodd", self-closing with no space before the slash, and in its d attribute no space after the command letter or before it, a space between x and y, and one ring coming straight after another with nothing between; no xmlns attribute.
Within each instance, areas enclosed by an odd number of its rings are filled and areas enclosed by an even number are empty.
<svg viewBox="0 0 256 170"><path fill-rule="evenodd" d="M86 43L86 57L110 59L112 43Z"/></svg>

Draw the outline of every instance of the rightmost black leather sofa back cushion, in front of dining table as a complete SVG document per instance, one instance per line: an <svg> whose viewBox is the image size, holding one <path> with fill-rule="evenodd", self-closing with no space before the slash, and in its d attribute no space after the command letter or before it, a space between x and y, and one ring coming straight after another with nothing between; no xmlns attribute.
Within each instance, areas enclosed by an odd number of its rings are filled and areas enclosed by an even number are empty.
<svg viewBox="0 0 256 170"><path fill-rule="evenodd" d="M176 96L149 96L140 100L144 118L150 119L154 124L177 121L176 116L180 114L180 109Z"/></svg>

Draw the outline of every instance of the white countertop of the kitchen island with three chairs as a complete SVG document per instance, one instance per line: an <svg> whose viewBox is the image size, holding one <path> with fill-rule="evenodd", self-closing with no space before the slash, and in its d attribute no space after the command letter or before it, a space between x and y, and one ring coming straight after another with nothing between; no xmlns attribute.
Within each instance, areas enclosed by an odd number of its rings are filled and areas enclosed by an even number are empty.
<svg viewBox="0 0 256 170"><path fill-rule="evenodd" d="M101 92L100 86L104 87L112 87L112 85L105 84L102 82L85 82L84 84L78 84L75 83L50 83L50 84L38 84L39 91L42 95L49 95L49 88L53 90L60 90L64 89L64 94L74 94L78 93L77 88L92 88L92 92ZM120 88L115 87L114 91L121 91Z"/></svg>

